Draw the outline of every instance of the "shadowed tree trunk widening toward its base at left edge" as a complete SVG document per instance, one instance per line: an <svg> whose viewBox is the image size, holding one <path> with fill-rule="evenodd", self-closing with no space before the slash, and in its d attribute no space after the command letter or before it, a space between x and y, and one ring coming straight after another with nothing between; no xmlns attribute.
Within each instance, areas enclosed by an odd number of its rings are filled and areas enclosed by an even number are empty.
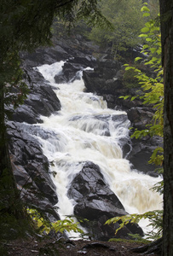
<svg viewBox="0 0 173 256"><path fill-rule="evenodd" d="M4 123L3 84L0 86L0 218L3 218L6 213L20 218L22 215L21 207L18 204L20 196L9 158L7 132Z"/></svg>

